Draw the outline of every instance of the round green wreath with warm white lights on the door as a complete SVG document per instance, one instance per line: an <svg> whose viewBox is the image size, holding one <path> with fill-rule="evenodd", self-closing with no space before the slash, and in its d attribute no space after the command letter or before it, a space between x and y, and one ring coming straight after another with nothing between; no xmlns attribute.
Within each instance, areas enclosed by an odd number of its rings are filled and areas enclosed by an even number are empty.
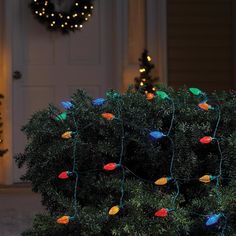
<svg viewBox="0 0 236 236"><path fill-rule="evenodd" d="M69 33L81 30L92 14L92 0L33 0L29 6L33 15L52 31Z"/></svg>

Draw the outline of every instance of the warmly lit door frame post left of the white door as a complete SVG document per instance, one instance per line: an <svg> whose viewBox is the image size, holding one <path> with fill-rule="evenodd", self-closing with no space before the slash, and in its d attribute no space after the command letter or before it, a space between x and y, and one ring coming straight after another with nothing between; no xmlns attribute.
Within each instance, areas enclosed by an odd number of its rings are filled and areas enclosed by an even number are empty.
<svg viewBox="0 0 236 236"><path fill-rule="evenodd" d="M12 150L12 0L3 1L3 78L2 88L4 101L3 112L3 139L8 152L2 157L0 172L0 183L10 185L13 182L13 150Z"/></svg>

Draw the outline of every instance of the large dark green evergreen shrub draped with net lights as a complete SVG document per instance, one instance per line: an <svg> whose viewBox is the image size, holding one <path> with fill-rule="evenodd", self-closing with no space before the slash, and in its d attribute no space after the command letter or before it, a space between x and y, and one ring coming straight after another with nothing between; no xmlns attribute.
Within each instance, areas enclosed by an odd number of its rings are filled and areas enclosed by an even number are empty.
<svg viewBox="0 0 236 236"><path fill-rule="evenodd" d="M92 98L78 90L66 120L55 119L62 111L49 105L35 113L23 127L27 136L24 153L16 156L19 167L26 165L23 180L31 181L32 190L40 193L48 214L37 215L30 235L236 235L236 92L209 94L209 103L219 105L221 119L216 133L222 150L222 175L218 190L213 180L208 184L198 178L219 174L220 156L215 142L204 145L203 136L211 135L217 123L217 111L200 110L201 96L186 88L163 89L174 101L176 112L170 137L174 142L173 173L180 193L176 208L165 218L154 216L161 208L171 208L176 185L154 182L169 173L172 149L169 139L152 141L150 130L167 133L171 103L157 96L148 101L141 93L128 89L125 94L110 90L107 102L93 106ZM106 172L103 166L117 163L121 153L122 129L118 119L105 120L104 112L119 117L124 127L125 169L124 207L114 216L109 209L120 200L122 173L119 168ZM72 115L72 113L74 115ZM73 118L74 117L74 118ZM74 125L74 119L78 127ZM76 168L78 181L78 218L67 225L56 223L62 215L73 214L75 179L61 180L58 175L73 168L74 140L62 139L67 130L78 131ZM132 172L130 172L130 171ZM136 176L135 176L135 175ZM220 201L217 200L220 195ZM212 226L206 216L223 213Z"/></svg>

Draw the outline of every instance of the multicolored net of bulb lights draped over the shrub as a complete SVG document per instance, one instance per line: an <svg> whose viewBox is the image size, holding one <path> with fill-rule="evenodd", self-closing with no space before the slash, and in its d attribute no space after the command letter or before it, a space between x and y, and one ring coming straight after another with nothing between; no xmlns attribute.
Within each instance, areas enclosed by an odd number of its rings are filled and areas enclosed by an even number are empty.
<svg viewBox="0 0 236 236"><path fill-rule="evenodd" d="M215 141L215 143L217 144L217 148L219 151L219 171L217 175L203 175L200 178L188 178L188 179L181 179L181 178L177 178L174 173L173 173L173 166L174 166L174 159L175 159L175 145L173 142L173 139L170 137L171 136L171 130L173 127L173 123L174 123L174 119L175 119L175 104L174 101L169 97L169 95L163 91L157 91L156 95L157 98L160 98L162 100L166 100L166 101L170 101L171 105L172 105L172 116L171 116L171 121L170 121L170 127L167 131L167 133L163 133L159 130L148 130L145 129L146 131L149 131L149 137L153 140L153 141L160 141L162 138L167 138L169 139L170 143L171 143L171 150L172 150L172 155L171 155L171 161L170 161L170 167L169 167L169 173L167 176L162 176L161 178L159 178L158 180L155 181L155 184L158 186L162 186L162 185L166 185L169 182L173 182L176 185L176 194L172 197L172 201L171 201L171 208L161 208L159 210L157 210L154 215L156 217L167 217L168 214L170 212L174 212L177 210L176 208L176 200L177 197L179 196L180 193L180 189L179 189L179 182L184 181L192 181L192 180L196 180L198 179L200 182L203 183L210 183L211 181L216 181L216 185L215 185L215 189L216 189L216 194L217 194L217 201L218 204L221 204L221 196L220 196L220 192L219 192L219 183L221 179L229 179L229 178L224 178L222 176L222 162L223 162L223 155L222 155L222 151L221 151L221 147L220 147L220 142L219 142L219 138L216 137L216 133L217 133L217 129L219 127L219 123L221 120L221 110L220 110L220 106L219 105L210 105L208 104L208 98L207 98L207 94L203 93L201 90L197 89L197 88L190 88L190 91L197 96L203 96L204 97L204 101L200 102L199 104L204 104L199 106L200 109L204 110L204 111L216 111L218 114L218 118L217 118L217 123L214 129L214 132L212 134L212 136L205 136L203 138L200 139L200 142L202 144L209 144L213 141ZM119 101L119 99L118 99ZM92 105L93 106L103 106L104 104L106 104L108 102L107 99L104 98L97 98L94 99L92 101ZM72 114L72 118L73 118L73 122L74 122L74 129L75 131L71 131L71 130L67 130L65 131L62 135L61 138L63 139L73 139L73 169L72 170L66 170L66 171L62 171L59 174L59 178L60 179L68 179L68 178L73 178L75 177L75 188L74 188L74 195L73 195L73 209L74 209L74 214L72 216L68 216L68 215L64 215L61 216L59 219L57 219L57 222L60 224L68 224L70 221L73 221L77 218L78 212L77 212L77 189L78 189L78 179L79 179L79 173L78 173L78 169L76 168L76 153L77 153L77 142L79 140L79 133L78 133L78 125L77 122L75 120L74 114L71 111L71 109L73 108L73 104L71 102L63 102L62 103L63 107L66 110L70 110L70 114ZM120 134L120 155L119 155L119 161L116 162L110 162L110 163L106 163L103 168L101 169L95 169L95 170L88 170L85 171L85 173L90 173L90 172L96 172L96 171L114 171L114 170L118 170L121 171L122 176L121 176L121 181L120 181L120 201L119 204L116 204L114 206L112 206L109 209L108 214L110 216L116 215L123 207L124 207L124 185L125 185L125 176L126 176L126 172L132 174L133 176L135 176L136 178L138 178L140 181L144 181L146 183L150 183L153 184L153 181L151 180L146 180L143 179L141 177L139 177L138 175L136 175L133 171L131 171L128 167L126 167L123 164L123 157L124 157L124 140L125 140L125 125L122 119L122 106L123 104L121 103L121 100L119 101L118 104L118 110L115 112L117 114L117 116L115 116L112 113L109 112L105 112L101 114L101 117L105 120L107 120L108 122L113 122L113 121L117 121L118 125L120 125L121 127L121 134ZM61 114L57 115L55 117L56 121L62 121L64 122L67 119L67 111L62 112ZM90 126L91 124L89 124L88 126ZM84 127L87 128L88 126ZM81 172L80 174L83 174L83 172ZM227 217L225 216L225 214L223 212L216 212L213 214L198 214L198 213L194 213L193 214L197 214L199 216L204 216L206 217L206 225L210 226L213 224L216 224L219 222L220 219L224 219L224 225L221 231L221 235L224 235L224 231L226 229L226 224L227 224Z"/></svg>

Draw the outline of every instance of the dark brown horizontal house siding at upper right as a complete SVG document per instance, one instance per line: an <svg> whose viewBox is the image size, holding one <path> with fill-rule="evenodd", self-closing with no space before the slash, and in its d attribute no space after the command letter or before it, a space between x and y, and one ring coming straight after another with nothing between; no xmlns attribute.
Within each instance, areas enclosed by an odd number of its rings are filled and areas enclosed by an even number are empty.
<svg viewBox="0 0 236 236"><path fill-rule="evenodd" d="M234 0L167 0L168 83L235 88Z"/></svg>

